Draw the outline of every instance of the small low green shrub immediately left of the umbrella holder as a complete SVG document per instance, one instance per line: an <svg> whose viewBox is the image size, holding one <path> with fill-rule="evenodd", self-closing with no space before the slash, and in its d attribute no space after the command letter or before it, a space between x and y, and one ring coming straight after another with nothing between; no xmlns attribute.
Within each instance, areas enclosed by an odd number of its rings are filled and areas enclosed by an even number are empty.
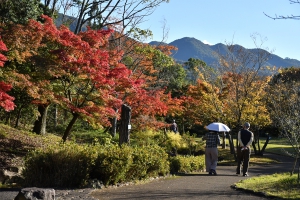
<svg viewBox="0 0 300 200"><path fill-rule="evenodd" d="M172 174L202 171L204 167L204 155L170 157L170 171Z"/></svg>

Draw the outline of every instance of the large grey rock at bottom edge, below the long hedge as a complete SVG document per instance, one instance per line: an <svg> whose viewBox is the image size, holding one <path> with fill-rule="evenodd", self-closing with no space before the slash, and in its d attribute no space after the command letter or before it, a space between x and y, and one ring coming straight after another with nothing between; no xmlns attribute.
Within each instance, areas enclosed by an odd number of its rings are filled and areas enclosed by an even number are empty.
<svg viewBox="0 0 300 200"><path fill-rule="evenodd" d="M55 200L55 190L51 188L23 188L14 200Z"/></svg>

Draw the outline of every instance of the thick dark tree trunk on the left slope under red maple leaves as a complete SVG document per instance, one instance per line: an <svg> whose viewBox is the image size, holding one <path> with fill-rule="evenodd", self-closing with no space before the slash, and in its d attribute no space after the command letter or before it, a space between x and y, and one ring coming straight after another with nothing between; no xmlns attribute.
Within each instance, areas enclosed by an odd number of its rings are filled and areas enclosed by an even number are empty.
<svg viewBox="0 0 300 200"><path fill-rule="evenodd" d="M46 134L46 126L47 126L47 112L50 104L43 104L38 106L38 111L40 116L34 122L33 132L36 134L44 135Z"/></svg>

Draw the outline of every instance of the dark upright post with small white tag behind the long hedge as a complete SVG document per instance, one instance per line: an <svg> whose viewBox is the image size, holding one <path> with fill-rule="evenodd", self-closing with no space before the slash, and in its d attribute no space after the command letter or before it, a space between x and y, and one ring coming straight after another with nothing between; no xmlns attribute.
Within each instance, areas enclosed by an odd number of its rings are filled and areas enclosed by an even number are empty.
<svg viewBox="0 0 300 200"><path fill-rule="evenodd" d="M131 119L131 108L126 104L122 105L121 111L121 123L120 123L120 133L119 133L119 145L124 143L130 143L130 119Z"/></svg>

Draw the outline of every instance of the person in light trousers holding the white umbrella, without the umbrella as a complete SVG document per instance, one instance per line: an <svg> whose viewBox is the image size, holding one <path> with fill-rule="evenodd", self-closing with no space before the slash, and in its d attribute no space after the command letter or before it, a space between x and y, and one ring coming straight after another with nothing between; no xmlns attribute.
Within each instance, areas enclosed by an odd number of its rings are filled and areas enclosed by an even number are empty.
<svg viewBox="0 0 300 200"><path fill-rule="evenodd" d="M216 168L218 164L218 145L220 145L221 140L218 132L209 131L203 137L206 140L205 146L205 166L206 172L209 175L217 175Z"/></svg>

